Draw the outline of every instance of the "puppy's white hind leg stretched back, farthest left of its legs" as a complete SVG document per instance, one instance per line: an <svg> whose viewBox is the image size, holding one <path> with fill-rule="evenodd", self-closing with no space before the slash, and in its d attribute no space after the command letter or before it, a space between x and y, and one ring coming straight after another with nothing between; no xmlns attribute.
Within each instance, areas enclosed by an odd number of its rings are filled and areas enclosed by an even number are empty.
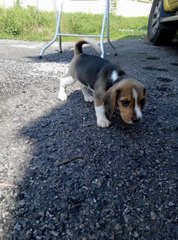
<svg viewBox="0 0 178 240"><path fill-rule="evenodd" d="M71 76L61 78L60 88L59 88L59 93L58 93L59 100L61 100L61 101L67 100L66 86L72 85L74 82L75 82L75 79Z"/></svg>

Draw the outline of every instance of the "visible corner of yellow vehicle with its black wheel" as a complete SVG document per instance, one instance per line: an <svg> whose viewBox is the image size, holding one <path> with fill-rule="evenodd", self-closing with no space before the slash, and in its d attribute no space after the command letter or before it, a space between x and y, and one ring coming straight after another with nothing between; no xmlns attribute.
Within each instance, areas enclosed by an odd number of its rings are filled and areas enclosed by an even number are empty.
<svg viewBox="0 0 178 240"><path fill-rule="evenodd" d="M148 39L154 45L168 45L178 30L178 0L153 0Z"/></svg>

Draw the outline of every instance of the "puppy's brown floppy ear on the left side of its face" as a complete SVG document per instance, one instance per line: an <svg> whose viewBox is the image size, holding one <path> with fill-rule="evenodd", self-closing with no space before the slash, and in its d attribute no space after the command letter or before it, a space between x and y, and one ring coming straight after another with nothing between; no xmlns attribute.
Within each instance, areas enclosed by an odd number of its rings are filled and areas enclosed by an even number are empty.
<svg viewBox="0 0 178 240"><path fill-rule="evenodd" d="M116 107L119 92L120 92L119 88L111 87L104 95L104 106L106 112L109 113L110 115L113 114L114 109Z"/></svg>

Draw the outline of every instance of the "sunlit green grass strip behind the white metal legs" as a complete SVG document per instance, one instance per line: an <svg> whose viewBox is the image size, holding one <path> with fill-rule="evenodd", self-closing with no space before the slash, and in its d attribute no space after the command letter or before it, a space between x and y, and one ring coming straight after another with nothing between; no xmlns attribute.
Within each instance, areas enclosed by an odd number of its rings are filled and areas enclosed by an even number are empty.
<svg viewBox="0 0 178 240"><path fill-rule="evenodd" d="M65 33L99 34L102 15L64 13L61 30ZM112 40L144 38L147 31L147 17L120 17L110 15L110 37ZM53 12L37 11L19 6L0 8L0 38L49 41L55 32ZM76 38L75 38L76 39ZM73 38L64 37L64 41Z"/></svg>

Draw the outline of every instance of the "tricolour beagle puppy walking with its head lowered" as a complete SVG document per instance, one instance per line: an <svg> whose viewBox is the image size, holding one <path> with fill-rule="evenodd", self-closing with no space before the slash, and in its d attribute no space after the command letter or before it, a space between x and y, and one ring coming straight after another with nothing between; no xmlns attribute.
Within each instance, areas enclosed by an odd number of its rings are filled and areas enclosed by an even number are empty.
<svg viewBox="0 0 178 240"><path fill-rule="evenodd" d="M99 127L109 127L106 113L112 114L116 108L119 108L124 122L139 122L146 100L146 88L139 81L128 77L119 66L106 59L84 54L83 44L89 44L100 52L99 45L94 41L80 40L75 44L67 76L60 80L58 98L65 101L66 86L78 80L82 83L84 100L94 101Z"/></svg>

